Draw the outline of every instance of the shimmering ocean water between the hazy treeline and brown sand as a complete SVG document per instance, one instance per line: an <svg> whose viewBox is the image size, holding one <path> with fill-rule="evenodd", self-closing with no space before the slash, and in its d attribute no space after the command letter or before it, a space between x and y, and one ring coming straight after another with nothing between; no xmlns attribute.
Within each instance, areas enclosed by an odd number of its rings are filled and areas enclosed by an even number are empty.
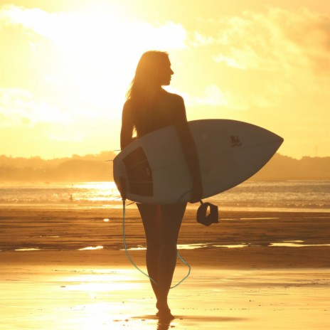
<svg viewBox="0 0 330 330"><path fill-rule="evenodd" d="M330 211L330 181L245 181L205 201L220 208ZM114 182L1 183L1 206L120 208Z"/></svg>

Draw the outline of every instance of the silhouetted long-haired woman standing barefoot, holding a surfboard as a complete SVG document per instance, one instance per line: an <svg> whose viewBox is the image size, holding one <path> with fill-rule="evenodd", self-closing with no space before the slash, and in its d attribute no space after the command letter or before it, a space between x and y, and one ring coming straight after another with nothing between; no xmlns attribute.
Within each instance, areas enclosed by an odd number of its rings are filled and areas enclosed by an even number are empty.
<svg viewBox="0 0 330 330"><path fill-rule="evenodd" d="M142 55L122 110L121 148L134 140L134 133L139 138L161 127L175 125L193 178L191 203L195 203L202 196L201 173L183 98L161 87L170 84L173 74L167 53L148 51ZM157 315L162 319L173 319L167 296L176 267L176 243L186 203L139 203L137 207L147 239L148 274L156 282L151 281L151 286L159 309Z"/></svg>

